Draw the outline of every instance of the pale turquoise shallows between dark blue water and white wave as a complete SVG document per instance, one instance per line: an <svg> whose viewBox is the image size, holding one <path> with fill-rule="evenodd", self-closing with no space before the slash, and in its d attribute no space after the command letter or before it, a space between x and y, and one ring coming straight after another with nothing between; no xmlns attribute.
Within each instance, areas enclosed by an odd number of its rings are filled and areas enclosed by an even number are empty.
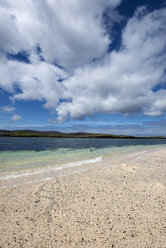
<svg viewBox="0 0 166 248"><path fill-rule="evenodd" d="M104 148L82 148L67 149L57 148L55 150L44 151L2 151L0 152L0 173L22 171L27 169L45 168L45 167L65 167L67 163L75 165L78 161L91 160L91 163L101 160L106 156L115 156L118 154L127 154L137 151L148 150L161 145L130 145L121 147Z"/></svg>

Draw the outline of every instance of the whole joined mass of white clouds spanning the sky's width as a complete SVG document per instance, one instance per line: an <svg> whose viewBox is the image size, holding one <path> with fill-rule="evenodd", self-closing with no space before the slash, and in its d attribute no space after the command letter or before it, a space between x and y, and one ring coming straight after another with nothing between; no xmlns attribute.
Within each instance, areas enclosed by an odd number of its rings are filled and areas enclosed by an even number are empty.
<svg viewBox="0 0 166 248"><path fill-rule="evenodd" d="M99 112L166 112L166 9L139 8L122 31L120 49L107 52L113 37L103 13L110 11L112 27L121 19L115 10L119 3L2 1L0 87L14 100L43 101L57 111L59 122ZM30 63L6 56L21 51L27 51Z"/></svg>

